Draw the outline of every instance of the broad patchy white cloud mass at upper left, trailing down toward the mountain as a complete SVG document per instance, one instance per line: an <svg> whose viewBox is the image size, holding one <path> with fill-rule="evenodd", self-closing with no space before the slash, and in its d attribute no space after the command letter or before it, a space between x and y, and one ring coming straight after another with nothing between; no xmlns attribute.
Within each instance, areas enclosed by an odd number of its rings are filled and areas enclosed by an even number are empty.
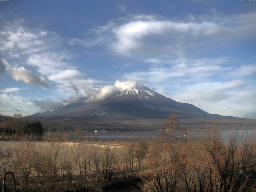
<svg viewBox="0 0 256 192"><path fill-rule="evenodd" d="M54 32L28 28L24 24L24 20L8 22L0 30L0 50L5 58L3 64L6 70L10 70L11 76L27 84L45 87L49 87L48 79L56 85L55 92L64 93L68 97L74 96L74 90L70 88L72 82L79 87L80 95L86 95L83 87L87 86L86 83L92 86L92 79L84 79L83 74L68 62L72 52L61 49L65 40ZM36 76L33 71L20 65L35 67L40 75Z"/></svg>

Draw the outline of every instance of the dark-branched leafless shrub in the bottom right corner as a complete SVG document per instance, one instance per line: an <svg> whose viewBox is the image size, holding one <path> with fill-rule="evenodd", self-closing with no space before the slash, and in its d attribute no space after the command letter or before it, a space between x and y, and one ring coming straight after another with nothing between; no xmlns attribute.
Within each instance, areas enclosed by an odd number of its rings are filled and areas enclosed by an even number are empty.
<svg viewBox="0 0 256 192"><path fill-rule="evenodd" d="M211 190L254 191L256 189L256 146L246 138L230 138L228 146L216 140L205 142L210 156L208 177Z"/></svg>

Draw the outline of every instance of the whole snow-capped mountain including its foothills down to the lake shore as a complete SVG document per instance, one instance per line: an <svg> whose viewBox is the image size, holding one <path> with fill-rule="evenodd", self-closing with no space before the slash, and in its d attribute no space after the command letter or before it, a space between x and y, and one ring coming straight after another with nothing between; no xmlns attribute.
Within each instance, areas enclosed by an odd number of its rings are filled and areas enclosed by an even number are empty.
<svg viewBox="0 0 256 192"><path fill-rule="evenodd" d="M120 86L122 84L122 86ZM54 111L36 113L30 118L40 119L47 127L60 126L64 130L80 127L84 130L148 130L162 128L166 118L178 114L181 125L202 128L215 123L225 127L237 126L243 119L209 114L200 108L162 96L140 82L121 82L104 90L102 95L80 98ZM125 85L125 86L123 86ZM103 93L104 93L103 91ZM246 120L251 126L255 120Z"/></svg>

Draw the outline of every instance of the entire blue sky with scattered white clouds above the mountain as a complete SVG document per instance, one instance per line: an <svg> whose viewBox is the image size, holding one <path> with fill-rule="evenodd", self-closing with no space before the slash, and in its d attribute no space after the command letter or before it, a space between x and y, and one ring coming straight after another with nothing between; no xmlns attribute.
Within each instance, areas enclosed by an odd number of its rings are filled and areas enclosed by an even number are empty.
<svg viewBox="0 0 256 192"><path fill-rule="evenodd" d="M0 114L100 99L138 80L256 119L255 20L256 1L0 1Z"/></svg>

